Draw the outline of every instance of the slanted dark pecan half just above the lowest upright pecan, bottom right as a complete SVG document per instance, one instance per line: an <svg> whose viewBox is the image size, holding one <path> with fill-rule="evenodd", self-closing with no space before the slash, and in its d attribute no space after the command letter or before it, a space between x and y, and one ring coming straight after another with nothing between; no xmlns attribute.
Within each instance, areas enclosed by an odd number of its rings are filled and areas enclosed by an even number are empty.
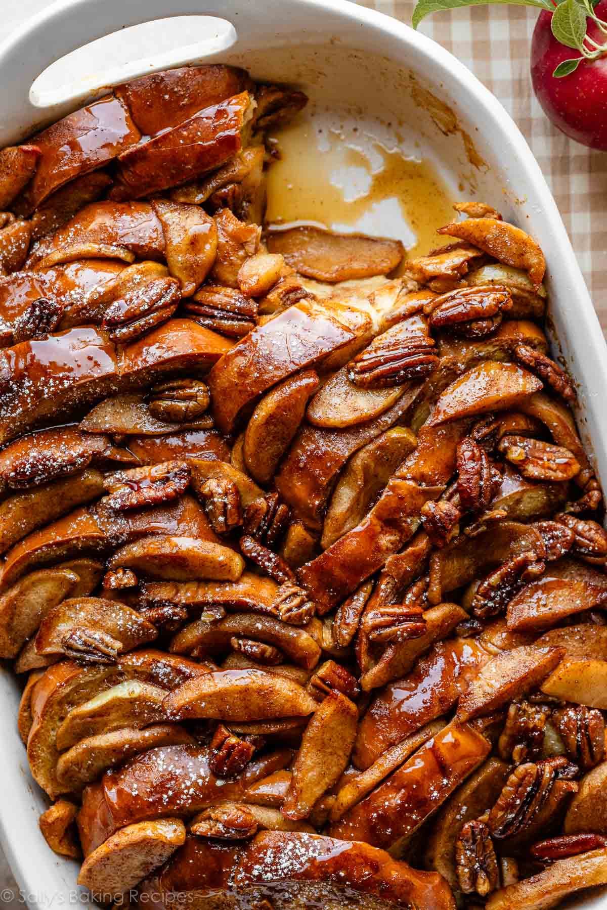
<svg viewBox="0 0 607 910"><path fill-rule="evenodd" d="M492 836L501 839L524 831L550 796L554 781L575 773L575 765L561 758L520 764L491 808L487 824Z"/></svg>

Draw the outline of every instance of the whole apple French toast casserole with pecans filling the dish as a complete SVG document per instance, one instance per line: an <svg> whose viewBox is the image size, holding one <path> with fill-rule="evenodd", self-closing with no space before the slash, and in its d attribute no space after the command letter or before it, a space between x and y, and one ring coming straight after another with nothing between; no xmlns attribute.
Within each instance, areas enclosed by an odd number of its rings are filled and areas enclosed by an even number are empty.
<svg viewBox="0 0 607 910"><path fill-rule="evenodd" d="M144 76L0 152L0 656L104 905L607 883L607 533L541 248L263 229L306 105Z"/></svg>

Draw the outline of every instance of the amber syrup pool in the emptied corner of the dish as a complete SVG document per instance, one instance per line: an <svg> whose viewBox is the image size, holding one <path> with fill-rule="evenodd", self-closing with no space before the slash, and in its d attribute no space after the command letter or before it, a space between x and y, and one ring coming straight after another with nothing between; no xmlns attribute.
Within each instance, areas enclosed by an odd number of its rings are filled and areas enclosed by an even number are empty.
<svg viewBox="0 0 607 910"><path fill-rule="evenodd" d="M270 228L315 224L402 241L410 258L442 246L454 201L430 160L409 156L356 126L299 118L271 138L280 157L268 168Z"/></svg>

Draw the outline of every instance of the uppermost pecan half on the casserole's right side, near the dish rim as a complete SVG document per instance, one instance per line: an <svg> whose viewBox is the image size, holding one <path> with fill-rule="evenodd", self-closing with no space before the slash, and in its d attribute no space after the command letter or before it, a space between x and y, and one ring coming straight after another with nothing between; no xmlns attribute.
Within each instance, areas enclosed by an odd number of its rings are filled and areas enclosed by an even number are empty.
<svg viewBox="0 0 607 910"><path fill-rule="evenodd" d="M482 338L501 323L501 314L512 308L510 288L479 285L455 288L430 300L424 307L431 329L452 329L465 338Z"/></svg>

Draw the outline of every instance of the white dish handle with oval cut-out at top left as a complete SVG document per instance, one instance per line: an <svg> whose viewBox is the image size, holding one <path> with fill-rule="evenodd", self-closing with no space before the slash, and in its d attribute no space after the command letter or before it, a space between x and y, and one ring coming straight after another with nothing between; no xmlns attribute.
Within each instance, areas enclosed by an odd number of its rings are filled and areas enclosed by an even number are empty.
<svg viewBox="0 0 607 910"><path fill-rule="evenodd" d="M270 0L269 5L275 7L273 12L280 18L278 3ZM258 35L262 27L261 17L251 0L248 3L242 3L242 0L177 0L177 3L175 0L58 0L29 19L0 45L0 146L18 141L35 127L64 116L94 89L121 81L119 77L107 80L106 75L100 73L98 83L89 76L86 83L81 84L75 74L74 91L69 96L52 105L44 105L44 96L42 104L40 101L34 103L36 99L30 95L32 84L51 63L122 28L178 15L215 15L233 27L228 28L227 38L224 36L218 45L211 42L207 50L203 45L200 52L200 45L190 43L184 48L185 56L172 56L169 64L165 55L164 66L217 59L225 54L228 46L236 44L238 32ZM134 56L137 57L137 51ZM137 67L131 65L122 77L133 78L162 68L160 58L157 66L149 66L142 60L138 72Z"/></svg>

